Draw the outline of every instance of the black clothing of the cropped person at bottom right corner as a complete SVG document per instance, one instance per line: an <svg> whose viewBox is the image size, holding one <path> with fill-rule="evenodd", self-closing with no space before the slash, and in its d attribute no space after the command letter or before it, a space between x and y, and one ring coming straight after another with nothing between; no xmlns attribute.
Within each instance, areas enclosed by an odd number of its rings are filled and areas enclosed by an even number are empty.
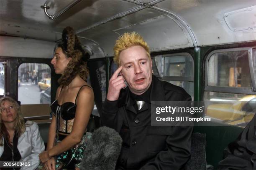
<svg viewBox="0 0 256 170"><path fill-rule="evenodd" d="M224 151L219 170L256 170L256 114L237 140Z"/></svg>

